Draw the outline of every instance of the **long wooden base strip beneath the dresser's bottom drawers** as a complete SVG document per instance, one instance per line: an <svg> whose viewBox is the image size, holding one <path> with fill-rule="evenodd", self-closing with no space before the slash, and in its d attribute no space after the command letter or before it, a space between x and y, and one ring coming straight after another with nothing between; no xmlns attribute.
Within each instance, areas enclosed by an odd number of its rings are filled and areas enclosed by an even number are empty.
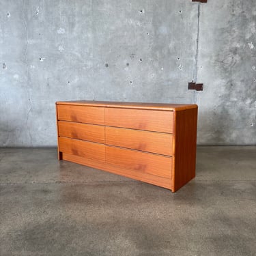
<svg viewBox="0 0 256 256"><path fill-rule="evenodd" d="M63 160L68 160L80 165L86 165L96 169L109 171L110 173L115 173L124 177L130 177L134 180L140 180L141 182L147 182L156 186L161 186L162 188L171 189L171 179L169 178L159 177L149 173L141 173L132 169L122 169L119 166L111 165L107 162L98 162L96 160L83 158L81 156L74 156L72 154L63 153Z"/></svg>

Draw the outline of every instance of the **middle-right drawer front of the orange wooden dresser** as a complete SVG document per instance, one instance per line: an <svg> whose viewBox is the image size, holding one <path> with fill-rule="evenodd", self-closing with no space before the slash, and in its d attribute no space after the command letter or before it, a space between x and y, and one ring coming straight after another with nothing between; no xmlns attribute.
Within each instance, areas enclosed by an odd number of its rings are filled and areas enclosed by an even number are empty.
<svg viewBox="0 0 256 256"><path fill-rule="evenodd" d="M106 144L171 156L173 134L106 126Z"/></svg>

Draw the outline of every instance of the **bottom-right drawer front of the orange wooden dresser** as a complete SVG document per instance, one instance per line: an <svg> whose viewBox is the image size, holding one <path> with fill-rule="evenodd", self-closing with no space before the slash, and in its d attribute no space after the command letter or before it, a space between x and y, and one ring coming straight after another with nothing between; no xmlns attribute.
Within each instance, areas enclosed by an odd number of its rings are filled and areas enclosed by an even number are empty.
<svg viewBox="0 0 256 256"><path fill-rule="evenodd" d="M106 163L121 169L171 178L172 158L106 146Z"/></svg>

